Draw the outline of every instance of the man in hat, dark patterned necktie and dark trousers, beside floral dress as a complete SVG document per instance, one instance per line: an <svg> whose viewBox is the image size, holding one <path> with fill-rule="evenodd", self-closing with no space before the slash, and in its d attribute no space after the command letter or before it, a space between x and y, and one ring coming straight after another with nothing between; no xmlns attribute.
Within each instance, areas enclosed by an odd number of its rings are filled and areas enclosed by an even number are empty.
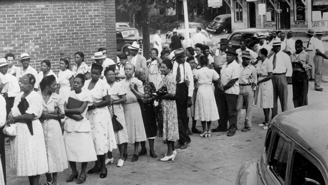
<svg viewBox="0 0 328 185"><path fill-rule="evenodd" d="M185 52L182 48L174 51L175 62L173 63L172 74L176 77L175 102L178 112L179 140L175 148L186 149L190 143L187 134L187 107L192 106L191 97L194 92L194 76L188 62L185 62Z"/></svg>

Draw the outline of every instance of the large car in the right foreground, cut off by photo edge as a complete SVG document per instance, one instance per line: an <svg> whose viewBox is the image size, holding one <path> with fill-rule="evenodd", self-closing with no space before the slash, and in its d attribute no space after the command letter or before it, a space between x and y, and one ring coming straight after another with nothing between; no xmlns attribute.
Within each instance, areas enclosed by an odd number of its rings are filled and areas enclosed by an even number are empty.
<svg viewBox="0 0 328 185"><path fill-rule="evenodd" d="M274 117L263 153L241 166L236 185L328 184L327 112L313 104Z"/></svg>

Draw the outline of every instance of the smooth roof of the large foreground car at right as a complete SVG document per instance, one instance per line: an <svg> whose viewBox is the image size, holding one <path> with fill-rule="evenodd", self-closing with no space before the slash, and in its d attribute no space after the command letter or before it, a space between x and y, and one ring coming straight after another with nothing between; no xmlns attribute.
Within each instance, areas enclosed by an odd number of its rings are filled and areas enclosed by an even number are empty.
<svg viewBox="0 0 328 185"><path fill-rule="evenodd" d="M328 167L328 106L302 106L275 117L273 125L294 139Z"/></svg>

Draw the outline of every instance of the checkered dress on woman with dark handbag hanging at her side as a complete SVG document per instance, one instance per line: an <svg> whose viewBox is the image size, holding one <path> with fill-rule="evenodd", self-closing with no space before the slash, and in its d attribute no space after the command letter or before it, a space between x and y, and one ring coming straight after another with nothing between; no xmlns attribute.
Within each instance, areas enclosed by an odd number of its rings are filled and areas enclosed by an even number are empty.
<svg viewBox="0 0 328 185"><path fill-rule="evenodd" d="M114 82L113 87L108 87L108 94L111 95L111 101L115 101L119 99L120 95L126 94L126 91L123 89L122 85L118 82ZM116 120L123 126L123 129L120 131L114 131L116 144L120 145L122 143L128 142L128 133L126 130L126 123L124 118L124 111L121 104L113 104L112 106L108 106L109 113L113 116L113 108L114 114L117 116Z"/></svg>

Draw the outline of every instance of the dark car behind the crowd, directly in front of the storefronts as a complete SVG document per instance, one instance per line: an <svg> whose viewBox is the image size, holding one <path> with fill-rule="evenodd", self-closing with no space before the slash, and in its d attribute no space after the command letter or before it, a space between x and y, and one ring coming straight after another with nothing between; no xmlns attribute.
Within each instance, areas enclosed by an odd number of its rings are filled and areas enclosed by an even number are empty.
<svg viewBox="0 0 328 185"><path fill-rule="evenodd" d="M239 41L241 39L248 39L248 38L252 38L252 36L255 33L258 32L272 32L274 30L271 29L261 29L261 28L247 28L247 29L241 29L241 30L237 30L232 32L229 36L228 36L228 40L231 41L232 43L232 47L235 49L239 49Z"/></svg>

